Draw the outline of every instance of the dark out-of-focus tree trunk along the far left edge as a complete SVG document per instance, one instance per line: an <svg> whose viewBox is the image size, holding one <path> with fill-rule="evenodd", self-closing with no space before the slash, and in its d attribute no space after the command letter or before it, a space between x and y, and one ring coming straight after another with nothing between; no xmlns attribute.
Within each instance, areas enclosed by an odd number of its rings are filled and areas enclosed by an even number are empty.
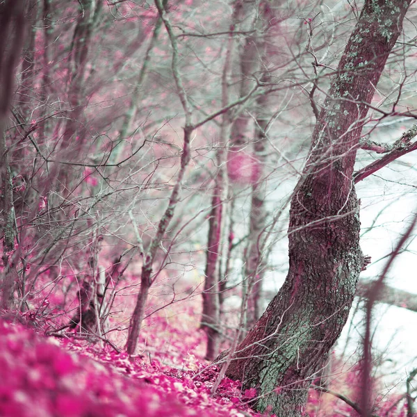
<svg viewBox="0 0 417 417"><path fill-rule="evenodd" d="M13 179L6 144L6 128L13 99L16 67L19 62L25 30L24 1L8 0L0 5L0 238L3 238L3 271L1 274L1 307L10 309L14 303L17 274L15 252L15 207Z"/></svg>

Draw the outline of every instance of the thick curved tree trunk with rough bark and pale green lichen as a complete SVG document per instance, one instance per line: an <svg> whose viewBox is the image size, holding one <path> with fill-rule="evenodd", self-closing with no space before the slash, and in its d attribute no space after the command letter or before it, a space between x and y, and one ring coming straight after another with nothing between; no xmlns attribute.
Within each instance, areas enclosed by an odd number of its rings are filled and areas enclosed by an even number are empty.
<svg viewBox="0 0 417 417"><path fill-rule="evenodd" d="M311 379L347 320L363 262L354 160L409 3L366 0L332 80L291 202L286 281L227 370L257 389L259 411L302 416Z"/></svg>

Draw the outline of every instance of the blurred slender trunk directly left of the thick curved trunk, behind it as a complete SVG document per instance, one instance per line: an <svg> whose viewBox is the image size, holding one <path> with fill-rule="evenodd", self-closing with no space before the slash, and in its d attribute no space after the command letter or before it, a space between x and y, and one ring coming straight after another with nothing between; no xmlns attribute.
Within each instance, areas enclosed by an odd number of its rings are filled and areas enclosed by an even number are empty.
<svg viewBox="0 0 417 417"><path fill-rule="evenodd" d="M275 3L280 3L276 1ZM276 6L276 4L275 4ZM246 95L253 88L256 79L262 83L268 83L269 76L265 73L268 63L265 62L267 36L273 24L278 20L274 19L274 13L268 2L261 2L259 14L256 15L252 24L254 35L247 37L243 53L240 56L240 70L243 76L240 96ZM266 70L268 71L268 70ZM245 111L234 123L232 131L232 143L234 152L239 149L251 147L252 155L250 161L251 170L251 206L250 225L247 247L245 249L245 277L243 281L243 302L246 303L244 311L246 317L244 327L250 329L259 318L259 299L261 293L262 277L264 266L261 253L261 234L266 224L265 209L265 163L266 163L266 138L265 129L268 125L267 110L268 95L261 95L256 99L256 126L254 136L248 138L248 127L250 126L250 115Z"/></svg>

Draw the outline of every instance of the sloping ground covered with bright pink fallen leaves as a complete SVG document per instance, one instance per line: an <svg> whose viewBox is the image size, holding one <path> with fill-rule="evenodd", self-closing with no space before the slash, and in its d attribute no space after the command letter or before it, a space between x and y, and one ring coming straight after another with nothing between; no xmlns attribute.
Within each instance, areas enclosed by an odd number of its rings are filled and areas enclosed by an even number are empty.
<svg viewBox="0 0 417 417"><path fill-rule="evenodd" d="M212 395L219 370L192 354L182 366L178 355L167 365L166 352L129 360L111 345L44 336L20 321L0 318L2 417L261 416L250 409L255 390L242 391L240 382L224 378ZM311 392L310 416L352 411L340 399ZM392 400L380 411L406 415Z"/></svg>

